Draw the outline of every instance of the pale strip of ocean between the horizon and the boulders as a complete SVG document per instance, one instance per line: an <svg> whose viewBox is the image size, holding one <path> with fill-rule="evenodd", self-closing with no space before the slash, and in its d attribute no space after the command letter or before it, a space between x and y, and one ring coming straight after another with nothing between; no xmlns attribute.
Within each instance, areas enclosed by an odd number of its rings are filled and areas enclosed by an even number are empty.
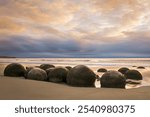
<svg viewBox="0 0 150 117"><path fill-rule="evenodd" d="M145 66L150 67L150 58L0 58L0 63L23 64L50 63L55 65L87 66Z"/></svg>

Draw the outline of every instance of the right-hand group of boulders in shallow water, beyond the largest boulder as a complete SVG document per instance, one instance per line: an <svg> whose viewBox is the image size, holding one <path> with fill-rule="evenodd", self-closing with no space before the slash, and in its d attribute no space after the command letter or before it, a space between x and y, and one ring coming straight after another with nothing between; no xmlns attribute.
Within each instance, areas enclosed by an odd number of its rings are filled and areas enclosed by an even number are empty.
<svg viewBox="0 0 150 117"><path fill-rule="evenodd" d="M97 72L103 68L98 69ZM141 69L144 69L141 67ZM122 67L118 71L107 71L100 78L101 87L107 88L125 88L127 83L134 84L143 79L142 74L137 70L132 70L127 67ZM138 82L140 83L140 82Z"/></svg>

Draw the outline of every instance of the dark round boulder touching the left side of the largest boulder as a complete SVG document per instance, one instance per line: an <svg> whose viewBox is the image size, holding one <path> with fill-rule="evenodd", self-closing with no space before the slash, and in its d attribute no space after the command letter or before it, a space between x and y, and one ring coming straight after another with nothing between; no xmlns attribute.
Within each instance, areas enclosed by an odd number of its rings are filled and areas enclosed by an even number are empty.
<svg viewBox="0 0 150 117"><path fill-rule="evenodd" d="M66 82L68 69L65 67L55 67L48 73L48 81L50 82Z"/></svg>

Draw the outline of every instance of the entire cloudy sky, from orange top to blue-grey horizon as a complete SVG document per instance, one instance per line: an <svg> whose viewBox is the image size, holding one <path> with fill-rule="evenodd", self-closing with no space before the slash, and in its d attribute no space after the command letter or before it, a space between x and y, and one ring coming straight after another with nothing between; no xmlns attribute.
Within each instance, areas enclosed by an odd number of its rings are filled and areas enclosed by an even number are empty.
<svg viewBox="0 0 150 117"><path fill-rule="evenodd" d="M150 57L150 0L0 0L0 56Z"/></svg>

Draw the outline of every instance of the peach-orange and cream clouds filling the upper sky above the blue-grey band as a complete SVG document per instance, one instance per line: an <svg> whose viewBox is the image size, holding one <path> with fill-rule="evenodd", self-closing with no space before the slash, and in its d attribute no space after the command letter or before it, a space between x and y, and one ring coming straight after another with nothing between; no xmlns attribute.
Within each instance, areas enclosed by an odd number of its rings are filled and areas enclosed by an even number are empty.
<svg viewBox="0 0 150 117"><path fill-rule="evenodd" d="M0 5L1 32L35 38L103 43L123 40L123 32L150 24L149 0L5 0Z"/></svg>

